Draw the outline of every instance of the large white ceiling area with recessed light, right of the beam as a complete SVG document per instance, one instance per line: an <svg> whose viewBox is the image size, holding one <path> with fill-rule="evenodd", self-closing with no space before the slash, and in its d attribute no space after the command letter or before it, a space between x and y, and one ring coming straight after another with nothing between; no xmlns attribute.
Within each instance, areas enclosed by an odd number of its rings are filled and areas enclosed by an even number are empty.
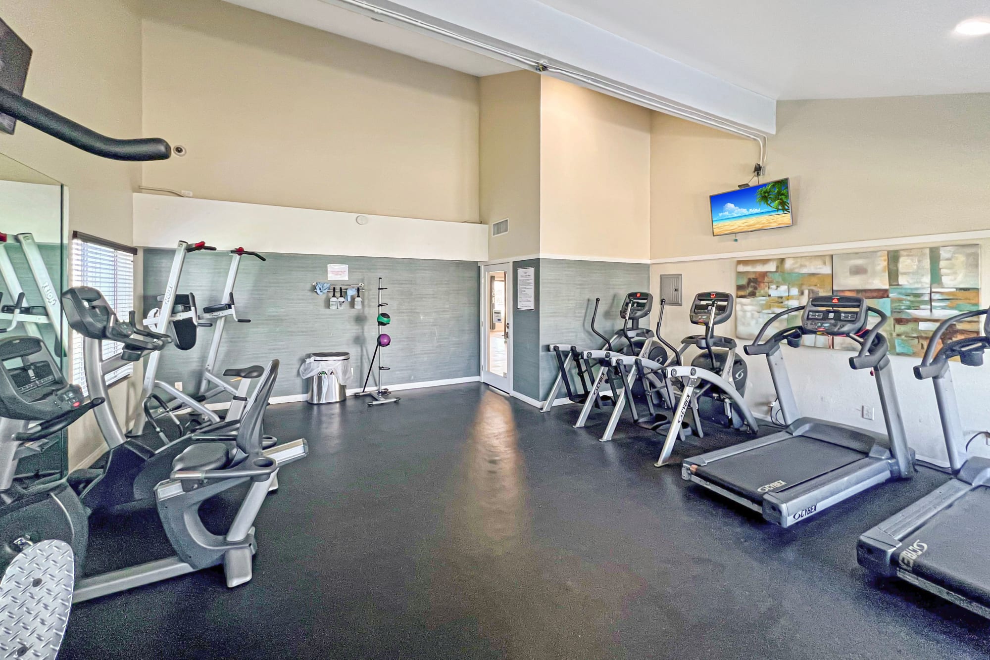
<svg viewBox="0 0 990 660"><path fill-rule="evenodd" d="M990 92L990 0L541 0L775 99Z"/></svg>

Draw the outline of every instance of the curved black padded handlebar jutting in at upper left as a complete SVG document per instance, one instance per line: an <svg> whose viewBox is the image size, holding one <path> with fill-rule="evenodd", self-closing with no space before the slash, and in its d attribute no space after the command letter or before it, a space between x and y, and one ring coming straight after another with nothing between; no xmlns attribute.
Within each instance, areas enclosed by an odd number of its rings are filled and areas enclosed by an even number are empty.
<svg viewBox="0 0 990 660"><path fill-rule="evenodd" d="M104 158L165 160L172 154L172 147L161 138L108 138L3 87L0 87L0 112L47 133L52 138Z"/></svg>

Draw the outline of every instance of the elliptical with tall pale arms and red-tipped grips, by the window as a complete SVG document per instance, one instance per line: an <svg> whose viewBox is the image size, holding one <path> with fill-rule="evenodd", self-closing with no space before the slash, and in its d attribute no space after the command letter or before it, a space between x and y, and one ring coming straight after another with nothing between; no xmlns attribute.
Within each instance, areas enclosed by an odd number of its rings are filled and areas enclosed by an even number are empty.
<svg viewBox="0 0 990 660"><path fill-rule="evenodd" d="M207 370L204 371L201 379L200 394L193 396L168 383L157 380L161 353L159 351L152 352L148 357L148 364L145 366L142 410L138 414L134 427L128 432L131 437L141 437L145 431L145 424L148 423L154 428L161 441L167 443L194 430L213 430L224 422L237 421L244 411L247 403L247 391L251 382L260 375L260 368L226 370L224 376L234 378L239 383L237 388L218 378L213 373L213 368L227 317L233 317L239 323L250 323L247 319L237 318L234 306L234 282L237 279L241 256L249 254L261 260L264 260L264 257L255 252L247 252L240 247L231 250L233 259L228 272L227 284L224 287L224 302L204 308L201 315L196 307L194 294L177 293L179 279L182 276L182 268L187 254L202 250L216 251L216 249L216 247L207 245L203 241L189 243L180 240L178 242L172 257L172 266L168 274L165 293L158 296L160 305L148 313L148 318L144 322L155 332L168 333L172 338L172 344L179 350L190 350L196 345L199 328L213 326L214 320L216 321L217 327L210 344ZM210 389L211 385L216 387ZM221 392L229 392L233 396L231 407L223 419L216 412L210 410L205 403L209 397L216 396ZM179 420L178 414L185 410L188 410L189 414L183 423ZM175 428L171 435L159 424L165 418Z"/></svg>

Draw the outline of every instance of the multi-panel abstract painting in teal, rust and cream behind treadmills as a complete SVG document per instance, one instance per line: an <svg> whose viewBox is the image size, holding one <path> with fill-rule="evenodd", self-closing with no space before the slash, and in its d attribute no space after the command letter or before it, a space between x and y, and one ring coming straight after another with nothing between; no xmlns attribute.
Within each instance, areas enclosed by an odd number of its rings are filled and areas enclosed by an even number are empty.
<svg viewBox="0 0 990 660"><path fill-rule="evenodd" d="M846 294L866 298L871 307L891 317L884 328L891 352L920 357L942 320L979 309L979 275L979 245L737 261L736 335L755 338L773 315L804 305L813 296ZM799 315L791 314L778 320L773 331L799 323ZM975 322L964 322L946 330L943 338L978 331ZM809 335L805 343L858 349L851 339L828 336Z"/></svg>

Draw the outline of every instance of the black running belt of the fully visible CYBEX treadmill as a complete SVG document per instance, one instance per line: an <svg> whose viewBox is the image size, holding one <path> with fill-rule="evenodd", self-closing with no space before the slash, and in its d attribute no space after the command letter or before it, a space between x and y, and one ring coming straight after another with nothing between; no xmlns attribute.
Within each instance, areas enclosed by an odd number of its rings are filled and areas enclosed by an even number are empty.
<svg viewBox="0 0 990 660"><path fill-rule="evenodd" d="M762 502L766 492L800 484L864 456L855 449L797 435L698 466L695 474L753 502ZM760 491L777 482L784 483Z"/></svg>

